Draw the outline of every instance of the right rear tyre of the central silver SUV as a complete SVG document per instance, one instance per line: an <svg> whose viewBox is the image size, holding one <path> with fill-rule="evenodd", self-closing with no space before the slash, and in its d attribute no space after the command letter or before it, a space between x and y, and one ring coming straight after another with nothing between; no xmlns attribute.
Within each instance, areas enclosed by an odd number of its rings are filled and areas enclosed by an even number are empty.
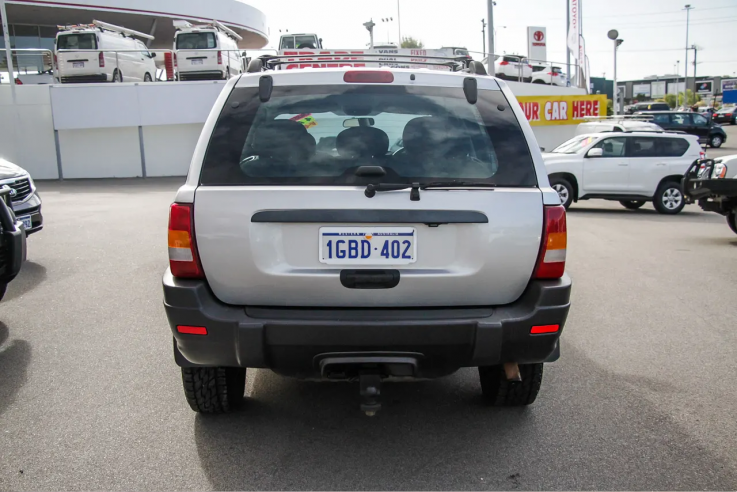
<svg viewBox="0 0 737 492"><path fill-rule="evenodd" d="M479 367L484 400L495 407L521 407L532 404L540 391L543 364L520 364L522 381L507 381L504 367Z"/></svg>

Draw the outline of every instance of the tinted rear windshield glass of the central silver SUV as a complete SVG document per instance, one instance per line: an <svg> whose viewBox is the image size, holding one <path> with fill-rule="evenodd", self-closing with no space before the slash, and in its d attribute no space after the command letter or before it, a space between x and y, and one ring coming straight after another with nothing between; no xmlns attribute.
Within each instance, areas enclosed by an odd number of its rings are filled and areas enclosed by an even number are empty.
<svg viewBox="0 0 737 492"><path fill-rule="evenodd" d="M236 88L209 143L201 183L362 185L462 179L536 186L522 130L500 91L466 101L461 88Z"/></svg>

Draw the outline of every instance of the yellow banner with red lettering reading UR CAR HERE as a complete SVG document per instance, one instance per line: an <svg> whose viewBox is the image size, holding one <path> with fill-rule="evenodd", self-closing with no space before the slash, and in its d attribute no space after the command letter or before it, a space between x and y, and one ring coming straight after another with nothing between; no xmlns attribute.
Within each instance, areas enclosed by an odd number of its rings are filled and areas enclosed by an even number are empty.
<svg viewBox="0 0 737 492"><path fill-rule="evenodd" d="M518 96L531 126L577 125L587 116L606 116L606 95Z"/></svg>

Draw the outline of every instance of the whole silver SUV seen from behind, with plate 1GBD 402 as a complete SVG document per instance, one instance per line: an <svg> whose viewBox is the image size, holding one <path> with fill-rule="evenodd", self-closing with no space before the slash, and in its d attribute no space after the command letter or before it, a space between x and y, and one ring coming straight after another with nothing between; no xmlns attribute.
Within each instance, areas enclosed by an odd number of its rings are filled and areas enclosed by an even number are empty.
<svg viewBox="0 0 737 492"><path fill-rule="evenodd" d="M230 80L170 211L164 305L192 409L238 406L246 368L357 380L369 415L382 379L461 367L491 404L532 403L571 289L538 148L488 76Z"/></svg>

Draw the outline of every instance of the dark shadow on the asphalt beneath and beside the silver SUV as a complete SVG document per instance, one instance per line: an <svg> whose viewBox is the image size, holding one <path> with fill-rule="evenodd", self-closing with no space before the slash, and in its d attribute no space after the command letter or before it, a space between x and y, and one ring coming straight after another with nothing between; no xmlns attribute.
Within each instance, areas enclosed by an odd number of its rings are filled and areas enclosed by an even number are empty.
<svg viewBox="0 0 737 492"><path fill-rule="evenodd" d="M385 384L374 418L357 384L250 372L243 410L195 417L202 469L216 490L737 487L735 468L650 401L677 388L564 349L526 409L484 406L474 369Z"/></svg>

